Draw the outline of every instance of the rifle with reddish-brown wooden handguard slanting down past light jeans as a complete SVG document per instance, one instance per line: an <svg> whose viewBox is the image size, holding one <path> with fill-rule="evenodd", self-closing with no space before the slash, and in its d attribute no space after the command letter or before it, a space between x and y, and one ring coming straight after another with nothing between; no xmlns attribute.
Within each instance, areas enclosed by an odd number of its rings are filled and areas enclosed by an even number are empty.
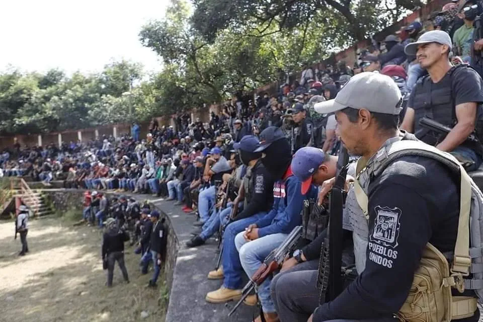
<svg viewBox="0 0 483 322"><path fill-rule="evenodd" d="M273 272L275 272L280 265L283 263L285 257L293 250L295 245L297 245L298 240L302 236L302 226L296 226L290 232L290 234L285 238L283 243L276 249L270 252L268 256L263 261L263 264L250 278L250 282L245 285L241 291L241 298L233 307L233 309L228 313L228 316L234 313L234 311L240 306L240 304L247 298L247 296L252 292L256 286L260 286L267 277L269 277Z"/></svg>

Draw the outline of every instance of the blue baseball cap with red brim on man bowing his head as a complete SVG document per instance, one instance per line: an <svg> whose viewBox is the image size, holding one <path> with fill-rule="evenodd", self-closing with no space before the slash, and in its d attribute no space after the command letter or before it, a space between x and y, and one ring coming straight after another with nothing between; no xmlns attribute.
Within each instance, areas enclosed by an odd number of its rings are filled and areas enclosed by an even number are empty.
<svg viewBox="0 0 483 322"><path fill-rule="evenodd" d="M292 173L302 182L302 195L310 189L313 174L325 160L324 151L311 146L302 147L293 155Z"/></svg>

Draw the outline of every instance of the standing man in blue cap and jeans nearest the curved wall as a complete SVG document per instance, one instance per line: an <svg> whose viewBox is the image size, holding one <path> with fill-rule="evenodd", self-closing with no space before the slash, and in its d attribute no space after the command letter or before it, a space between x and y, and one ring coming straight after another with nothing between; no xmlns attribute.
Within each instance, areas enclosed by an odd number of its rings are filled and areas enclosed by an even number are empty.
<svg viewBox="0 0 483 322"><path fill-rule="evenodd" d="M157 278L161 271L161 263L166 260L166 227L165 218L159 220L159 212L157 210L151 211L148 215L152 222L152 232L151 232L151 255L152 263L154 264L154 273L152 278L149 280L149 287L156 287Z"/></svg>

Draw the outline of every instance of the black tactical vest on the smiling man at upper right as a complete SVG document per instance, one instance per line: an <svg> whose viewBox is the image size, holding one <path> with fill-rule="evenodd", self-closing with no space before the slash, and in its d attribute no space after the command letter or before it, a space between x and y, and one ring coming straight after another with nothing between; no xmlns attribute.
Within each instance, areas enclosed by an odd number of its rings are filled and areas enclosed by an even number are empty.
<svg viewBox="0 0 483 322"><path fill-rule="evenodd" d="M451 67L446 75L437 84L433 84L428 76L424 76L418 81L414 88L414 101L412 108L414 109L414 133L418 139L430 145L437 145L446 136L433 133L422 127L419 122L423 117L435 120L450 128L457 123L456 106L453 98L452 76L459 68L468 68L464 64ZM479 113L480 106L477 106L476 117ZM476 126L476 124L475 124ZM466 146L474 150L476 153L483 155L483 147L481 144L473 142L463 142L462 146Z"/></svg>

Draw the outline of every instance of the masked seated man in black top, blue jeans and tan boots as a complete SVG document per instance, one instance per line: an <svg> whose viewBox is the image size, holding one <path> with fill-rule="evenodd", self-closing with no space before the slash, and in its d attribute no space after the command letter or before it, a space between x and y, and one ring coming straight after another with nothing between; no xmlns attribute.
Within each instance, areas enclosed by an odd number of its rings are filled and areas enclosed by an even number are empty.
<svg viewBox="0 0 483 322"><path fill-rule="evenodd" d="M270 172L262 163L262 152L255 152L260 147L259 140L253 135L244 136L240 142L233 144L239 150L241 162L248 166L238 196L233 201L230 223L226 226L222 240L222 268L211 271L209 279L223 279L223 286L206 295L211 303L222 303L241 297L241 278L243 268L235 248L234 238L250 224L267 216L273 202L272 188L274 182ZM244 198L244 199L241 199ZM238 203L244 201L243 211L237 213Z"/></svg>

